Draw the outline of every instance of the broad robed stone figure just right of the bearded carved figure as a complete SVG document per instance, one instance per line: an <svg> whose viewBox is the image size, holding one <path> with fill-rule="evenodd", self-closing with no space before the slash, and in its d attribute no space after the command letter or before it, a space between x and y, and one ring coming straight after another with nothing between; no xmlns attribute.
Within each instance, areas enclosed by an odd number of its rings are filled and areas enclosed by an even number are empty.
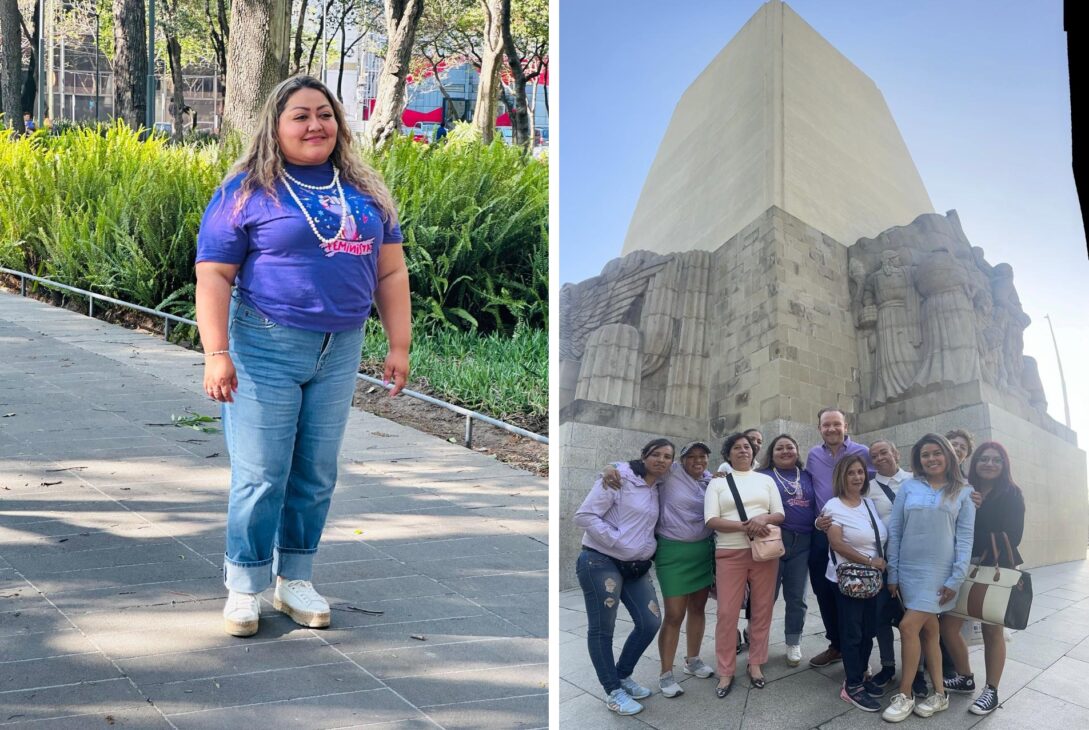
<svg viewBox="0 0 1089 730"><path fill-rule="evenodd" d="M980 377L972 288L967 268L940 246L916 267L922 297L922 364L915 382L958 385Z"/></svg>

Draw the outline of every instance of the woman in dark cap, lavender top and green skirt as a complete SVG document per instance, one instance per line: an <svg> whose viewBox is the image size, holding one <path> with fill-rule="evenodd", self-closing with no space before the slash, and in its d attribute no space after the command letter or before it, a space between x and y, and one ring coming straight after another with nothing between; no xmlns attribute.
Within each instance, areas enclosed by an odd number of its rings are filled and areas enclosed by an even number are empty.
<svg viewBox="0 0 1089 730"><path fill-rule="evenodd" d="M703 495L711 478L707 471L710 455L711 449L701 441L686 445L681 449L680 462L673 463L658 487L654 573L665 603L665 616L658 633L658 653L662 657L658 684L666 697L684 694L673 677L682 623L685 623L688 644L684 673L705 679L714 673L699 656L707 618L703 611L714 577L714 531L703 524ZM619 485L615 469L626 466L621 463L607 467L605 486L613 482Z"/></svg>

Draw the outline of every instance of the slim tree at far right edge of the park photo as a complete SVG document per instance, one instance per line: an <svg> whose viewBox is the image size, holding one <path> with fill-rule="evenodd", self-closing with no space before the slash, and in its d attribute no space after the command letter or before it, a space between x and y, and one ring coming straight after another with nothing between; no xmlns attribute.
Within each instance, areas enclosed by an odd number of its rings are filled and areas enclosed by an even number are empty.
<svg viewBox="0 0 1089 730"><path fill-rule="evenodd" d="M503 50L514 86L514 104L509 105L511 133L514 144L528 147L534 141L534 109L526 99L526 84L538 78L546 68L548 2L514 0L513 8L514 17L503 31Z"/></svg>

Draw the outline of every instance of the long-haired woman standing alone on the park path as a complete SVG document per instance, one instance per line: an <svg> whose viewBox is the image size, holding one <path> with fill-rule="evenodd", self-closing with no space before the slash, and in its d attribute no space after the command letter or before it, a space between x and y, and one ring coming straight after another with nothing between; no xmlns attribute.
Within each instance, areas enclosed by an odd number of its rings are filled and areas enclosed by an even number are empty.
<svg viewBox="0 0 1089 730"><path fill-rule="evenodd" d="M394 396L408 377L412 315L396 206L321 82L294 76L269 95L249 149L205 210L196 260L204 386L223 403L231 457L227 632L257 632L258 594L273 575L277 610L328 626L310 576L363 325L376 305Z"/></svg>

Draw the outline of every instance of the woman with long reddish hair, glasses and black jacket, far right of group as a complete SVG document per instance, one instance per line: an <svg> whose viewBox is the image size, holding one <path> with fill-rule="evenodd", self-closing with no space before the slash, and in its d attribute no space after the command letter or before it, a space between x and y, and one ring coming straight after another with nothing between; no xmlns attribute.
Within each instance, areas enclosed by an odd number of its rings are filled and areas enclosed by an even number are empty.
<svg viewBox="0 0 1089 730"><path fill-rule="evenodd" d="M999 564L1016 568L1024 562L1017 546L1025 534L1025 496L1010 473L1010 454L1005 448L998 441L981 443L971 459L968 478L976 488L972 501L979 504L971 557L981 558L983 552L989 552L991 537L994 536L999 555L1003 556ZM1013 555L1006 556L1005 538L1010 539ZM971 693L976 681L968 665L968 647L960 635L964 619L959 617L942 616L942 636L956 666L956 676L945 680L945 689L949 692ZM1006 665L1005 629L984 622L982 630L987 686L968 708L974 715L990 715L999 706L999 682Z"/></svg>

